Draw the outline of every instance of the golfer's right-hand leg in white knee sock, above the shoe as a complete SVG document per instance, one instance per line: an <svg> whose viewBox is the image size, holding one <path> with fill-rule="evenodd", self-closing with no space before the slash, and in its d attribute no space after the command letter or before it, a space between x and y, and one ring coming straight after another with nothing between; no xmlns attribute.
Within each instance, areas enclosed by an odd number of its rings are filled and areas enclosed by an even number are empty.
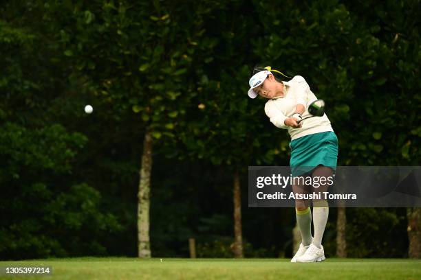
<svg viewBox="0 0 421 280"><path fill-rule="evenodd" d="M313 192L315 193L323 193L323 191L327 191L329 185L327 185L327 177L332 176L333 170L330 167L320 166L317 167L314 172L312 173L312 177L325 177L324 184L319 183L319 187L313 187ZM323 197L323 196L322 196ZM314 238L313 244L321 248L321 242L323 238L323 233L325 232L327 218L329 217L329 205L327 204L327 200L313 200L313 225L314 225Z"/></svg>

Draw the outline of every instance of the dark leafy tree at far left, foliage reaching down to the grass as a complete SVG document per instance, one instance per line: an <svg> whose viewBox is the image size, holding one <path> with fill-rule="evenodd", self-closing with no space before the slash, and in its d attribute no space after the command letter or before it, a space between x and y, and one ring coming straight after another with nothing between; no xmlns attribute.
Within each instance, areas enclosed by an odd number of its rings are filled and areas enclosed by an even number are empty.
<svg viewBox="0 0 421 280"><path fill-rule="evenodd" d="M98 191L72 176L87 138L48 109L64 91L58 65L46 59L54 45L25 25L30 15L14 20L17 10L9 8L2 11L10 18L0 21L1 256L105 254L104 231L120 225L102 213Z"/></svg>

